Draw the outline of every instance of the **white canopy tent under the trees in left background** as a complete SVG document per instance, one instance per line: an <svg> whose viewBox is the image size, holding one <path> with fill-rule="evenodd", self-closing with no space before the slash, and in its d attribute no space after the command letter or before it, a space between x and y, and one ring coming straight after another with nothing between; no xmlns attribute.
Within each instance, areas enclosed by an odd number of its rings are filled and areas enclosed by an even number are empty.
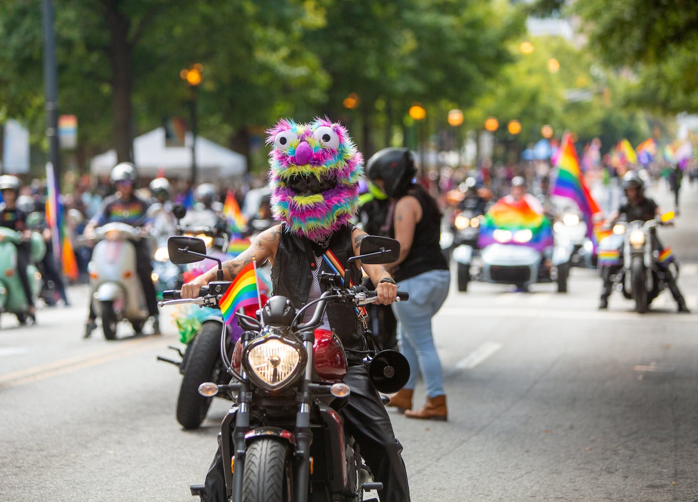
<svg viewBox="0 0 698 502"><path fill-rule="evenodd" d="M186 133L184 147L165 146L165 128L159 127L133 140L134 163L138 175L156 177L164 172L168 178L191 178L191 133ZM108 175L117 164L117 152L109 150L90 161L92 175ZM196 137L196 179L198 183L221 182L242 177L247 170L244 155Z"/></svg>

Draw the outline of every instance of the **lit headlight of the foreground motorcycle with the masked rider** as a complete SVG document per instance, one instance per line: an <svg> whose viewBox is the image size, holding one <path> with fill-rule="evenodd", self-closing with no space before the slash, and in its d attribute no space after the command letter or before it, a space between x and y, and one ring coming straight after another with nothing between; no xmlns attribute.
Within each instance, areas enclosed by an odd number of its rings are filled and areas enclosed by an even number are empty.
<svg viewBox="0 0 698 502"><path fill-rule="evenodd" d="M295 382L307 356L299 341L267 334L250 342L242 364L250 380L267 390L283 390Z"/></svg>

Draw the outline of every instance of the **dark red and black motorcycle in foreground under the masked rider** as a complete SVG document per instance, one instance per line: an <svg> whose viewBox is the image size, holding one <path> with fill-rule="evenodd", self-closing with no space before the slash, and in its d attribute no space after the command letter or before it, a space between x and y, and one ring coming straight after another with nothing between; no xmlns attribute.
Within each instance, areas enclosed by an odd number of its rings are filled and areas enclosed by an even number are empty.
<svg viewBox="0 0 698 502"><path fill-rule="evenodd" d="M170 237L168 248L177 263L207 258L200 239ZM362 241L361 255L348 262L392 263L398 256L394 239L369 236ZM221 332L221 359L231 383L202 383L199 392L209 398L228 394L235 402L223 418L220 436L223 465L231 466L225 469L225 485L232 502L359 502L364 492L382 488L371 482L359 447L338 413L350 396L342 382L347 371L343 346L334 332L318 329L328 304L359 307L375 302L376 293L363 286L345 288L339 274L322 272L320 280L327 290L302 309L274 296L258 318L237 312L245 331L232 355L226 350L225 327ZM229 286L211 282L193 300L177 300L180 292L175 290L165 295L175 300L163 304L216 308ZM399 293L400 300L407 297ZM317 306L315 313L303 323L311 305ZM394 350L369 351L364 362L380 392L396 392L407 382L409 364ZM204 487L193 485L191 493L202 496Z"/></svg>

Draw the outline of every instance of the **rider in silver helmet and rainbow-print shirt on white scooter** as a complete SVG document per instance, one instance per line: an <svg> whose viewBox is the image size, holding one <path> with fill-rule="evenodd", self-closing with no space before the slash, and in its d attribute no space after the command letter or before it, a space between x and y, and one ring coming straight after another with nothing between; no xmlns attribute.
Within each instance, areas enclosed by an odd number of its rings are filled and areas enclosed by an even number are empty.
<svg viewBox="0 0 698 502"><path fill-rule="evenodd" d="M110 174L110 182L116 189L116 193L103 200L99 210L87 223L84 229L86 237L94 235L95 228L114 221L127 223L133 227L143 226L147 222L148 202L138 198L133 192L137 177L135 166L130 162L121 162L114 166ZM138 272L138 278L143 287L149 316L153 319L153 332L158 334L160 332L160 322L158 319L155 286L151 279L153 267L151 265L149 242L147 239L140 239L137 242L133 242L133 244L138 262L136 272ZM90 302L89 316L85 324L85 338L88 338L97 327L95 319L96 313L92 308L92 302Z"/></svg>

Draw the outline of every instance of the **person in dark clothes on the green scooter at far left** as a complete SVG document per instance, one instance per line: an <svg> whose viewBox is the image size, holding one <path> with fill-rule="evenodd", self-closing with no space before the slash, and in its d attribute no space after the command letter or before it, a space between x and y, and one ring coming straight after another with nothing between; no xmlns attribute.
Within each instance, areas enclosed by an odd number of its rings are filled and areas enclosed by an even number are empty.
<svg viewBox="0 0 698 502"><path fill-rule="evenodd" d="M17 244L17 274L20 276L24 295L27 297L27 316L33 323L36 323L36 307L31 297L31 286L27 276L29 266L29 237L31 230L27 227L27 214L17 207L17 198L22 189L22 182L19 178L11 175L0 176L0 193L2 193L3 203L0 205L0 226L10 228L22 233L22 242ZM0 237L1 238L1 237Z"/></svg>

